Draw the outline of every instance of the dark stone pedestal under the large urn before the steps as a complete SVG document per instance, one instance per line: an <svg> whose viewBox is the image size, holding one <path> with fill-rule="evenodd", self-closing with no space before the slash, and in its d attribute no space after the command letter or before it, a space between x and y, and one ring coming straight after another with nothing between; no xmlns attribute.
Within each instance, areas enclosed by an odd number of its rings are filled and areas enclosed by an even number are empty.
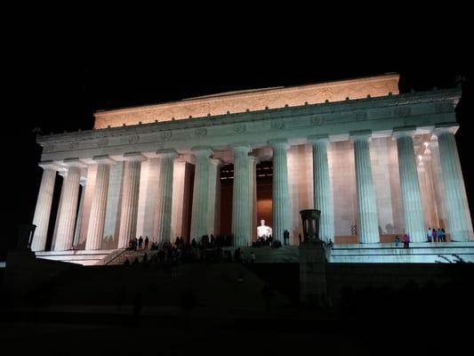
<svg viewBox="0 0 474 356"><path fill-rule="evenodd" d="M325 306L325 247L323 241L305 242L300 252L300 301L308 306Z"/></svg>

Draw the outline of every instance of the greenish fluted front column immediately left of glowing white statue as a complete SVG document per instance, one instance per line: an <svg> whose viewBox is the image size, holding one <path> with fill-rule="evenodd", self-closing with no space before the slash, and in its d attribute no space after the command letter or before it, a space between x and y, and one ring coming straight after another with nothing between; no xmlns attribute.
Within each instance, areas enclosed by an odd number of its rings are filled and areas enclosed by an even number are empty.
<svg viewBox="0 0 474 356"><path fill-rule="evenodd" d="M247 246L250 238L248 145L235 145L232 191L232 234L235 246Z"/></svg>

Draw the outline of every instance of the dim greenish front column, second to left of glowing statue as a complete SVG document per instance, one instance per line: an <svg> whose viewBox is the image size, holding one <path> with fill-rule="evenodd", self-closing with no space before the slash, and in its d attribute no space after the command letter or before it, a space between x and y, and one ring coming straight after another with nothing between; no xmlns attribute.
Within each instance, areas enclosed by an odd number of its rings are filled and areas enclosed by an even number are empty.
<svg viewBox="0 0 474 356"><path fill-rule="evenodd" d="M203 235L208 234L209 156L211 156L213 151L208 147L195 147L191 150L196 155L196 168L194 174L190 239L196 239L198 242Z"/></svg>

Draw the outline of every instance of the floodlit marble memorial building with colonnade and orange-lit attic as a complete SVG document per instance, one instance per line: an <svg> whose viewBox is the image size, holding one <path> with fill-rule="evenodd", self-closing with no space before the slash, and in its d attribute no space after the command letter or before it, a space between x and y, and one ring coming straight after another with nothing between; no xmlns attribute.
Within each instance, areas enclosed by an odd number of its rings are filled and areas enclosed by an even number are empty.
<svg viewBox="0 0 474 356"><path fill-rule="evenodd" d="M262 219L298 244L299 212L313 207L321 238L336 243L405 231L422 242L428 227L468 241L460 96L400 94L388 74L98 111L90 131L37 138L44 171L32 250L230 233L248 246Z"/></svg>

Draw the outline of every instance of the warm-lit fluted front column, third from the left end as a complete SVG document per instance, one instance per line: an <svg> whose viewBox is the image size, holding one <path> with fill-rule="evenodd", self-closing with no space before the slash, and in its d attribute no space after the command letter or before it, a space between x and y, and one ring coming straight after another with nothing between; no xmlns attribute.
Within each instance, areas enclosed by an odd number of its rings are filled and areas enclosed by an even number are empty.
<svg viewBox="0 0 474 356"><path fill-rule="evenodd" d="M89 225L87 227L85 249L99 250L104 236L110 165L113 164L114 161L108 158L108 156L96 156L92 159L97 165L97 173L95 175L95 185L92 196L91 214L89 215Z"/></svg>

